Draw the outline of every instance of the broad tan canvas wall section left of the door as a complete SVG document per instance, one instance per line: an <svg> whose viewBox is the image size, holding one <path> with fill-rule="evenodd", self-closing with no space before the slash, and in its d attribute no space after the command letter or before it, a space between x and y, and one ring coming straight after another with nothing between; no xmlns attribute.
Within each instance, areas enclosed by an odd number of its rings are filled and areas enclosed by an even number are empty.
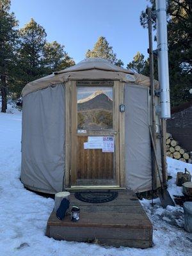
<svg viewBox="0 0 192 256"><path fill-rule="evenodd" d="M65 85L29 93L22 102L21 180L47 193L61 191L65 175Z"/></svg>

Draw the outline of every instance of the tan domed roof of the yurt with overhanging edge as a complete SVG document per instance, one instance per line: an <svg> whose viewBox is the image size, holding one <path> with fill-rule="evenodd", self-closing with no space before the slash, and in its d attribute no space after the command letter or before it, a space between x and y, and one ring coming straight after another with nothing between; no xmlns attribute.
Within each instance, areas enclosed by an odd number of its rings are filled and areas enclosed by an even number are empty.
<svg viewBox="0 0 192 256"><path fill-rule="evenodd" d="M49 76L32 81L22 90L22 97L31 92L36 92L54 84L65 83L68 80L119 80L125 83L135 83L143 86L150 86L150 79L147 76L137 74L129 69L113 65L102 58L87 58L76 65L54 72ZM158 82L155 81L158 88Z"/></svg>

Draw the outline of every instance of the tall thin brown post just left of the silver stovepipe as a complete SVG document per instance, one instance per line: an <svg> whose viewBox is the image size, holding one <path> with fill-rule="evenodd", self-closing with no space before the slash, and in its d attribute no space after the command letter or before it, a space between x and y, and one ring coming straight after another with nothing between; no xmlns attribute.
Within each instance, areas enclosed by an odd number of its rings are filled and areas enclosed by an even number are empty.
<svg viewBox="0 0 192 256"><path fill-rule="evenodd" d="M152 136L154 139L154 146L156 148L156 105L155 105L155 85L154 85L154 54L152 43L152 10L147 8L148 15L148 54L150 60L150 95L151 95L151 108L152 108ZM154 156L154 150L152 150L152 190L157 189L157 168Z"/></svg>

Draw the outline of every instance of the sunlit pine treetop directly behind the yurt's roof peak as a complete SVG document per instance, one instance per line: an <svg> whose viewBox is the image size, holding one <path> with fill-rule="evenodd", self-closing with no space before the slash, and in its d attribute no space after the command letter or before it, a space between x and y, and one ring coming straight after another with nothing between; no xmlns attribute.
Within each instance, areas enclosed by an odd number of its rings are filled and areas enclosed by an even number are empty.
<svg viewBox="0 0 192 256"><path fill-rule="evenodd" d="M113 47L109 46L109 43L104 36L98 38L93 49L88 49L85 56L86 58L104 58L119 67L123 67L124 65L122 60L116 58L116 54L113 52Z"/></svg>

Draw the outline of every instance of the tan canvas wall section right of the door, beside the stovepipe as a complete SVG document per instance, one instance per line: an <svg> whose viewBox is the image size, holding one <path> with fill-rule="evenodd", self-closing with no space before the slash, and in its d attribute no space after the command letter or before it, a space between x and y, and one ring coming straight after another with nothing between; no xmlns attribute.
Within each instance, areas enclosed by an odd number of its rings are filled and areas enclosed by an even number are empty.
<svg viewBox="0 0 192 256"><path fill-rule="evenodd" d="M125 177L126 186L134 191L151 189L151 125L149 88L125 84ZM157 116L157 131L160 125ZM157 157L161 170L161 140L157 139ZM159 182L159 180L157 181ZM159 184L159 183L158 183Z"/></svg>

